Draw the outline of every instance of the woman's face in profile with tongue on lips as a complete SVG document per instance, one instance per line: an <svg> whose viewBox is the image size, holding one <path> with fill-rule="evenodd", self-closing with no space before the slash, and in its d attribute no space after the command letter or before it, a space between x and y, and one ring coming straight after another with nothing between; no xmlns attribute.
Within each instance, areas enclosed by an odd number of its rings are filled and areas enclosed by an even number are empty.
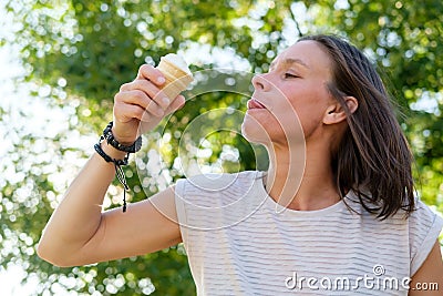
<svg viewBox="0 0 443 296"><path fill-rule="evenodd" d="M321 136L323 116L333 102L327 83L331 61L316 41L300 41L270 65L269 72L253 79L255 88L243 123L251 142L311 141ZM305 143L305 142L303 142Z"/></svg>

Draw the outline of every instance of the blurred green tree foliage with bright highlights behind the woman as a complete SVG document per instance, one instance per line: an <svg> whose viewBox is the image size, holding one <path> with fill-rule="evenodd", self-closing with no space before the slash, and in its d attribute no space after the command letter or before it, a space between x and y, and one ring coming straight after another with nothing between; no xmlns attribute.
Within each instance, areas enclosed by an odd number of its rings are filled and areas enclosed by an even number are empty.
<svg viewBox="0 0 443 296"><path fill-rule="evenodd" d="M404 114L399 120L416 156L420 194L443 212L443 2L440 0L11 0L7 9L21 25L14 27L13 40L0 40L0 45L20 47L27 70L21 83L49 88L45 95L49 104L66 110L66 122L71 130L79 131L79 139L100 133L112 119L113 95L120 85L131 81L142 63L156 64L168 52L208 49L204 53L207 57L200 59L203 62L193 65L194 71L217 68L217 60L210 58L217 52L229 52L233 60L248 63L248 71L257 73L267 71L278 51L301 34L347 37L364 49L384 73L391 93L398 99L399 111ZM249 85L237 81L226 88L233 91L206 93L192 100L172 116L162 134L151 135L153 139L174 135L162 152L173 180L183 175L174 166L178 156L175 140L188 122L214 109L245 109L247 98L243 94L248 93ZM39 95L39 91L33 95ZM421 108L423 101L431 102L432 108ZM2 111L0 120L10 119ZM39 259L34 246L65 190L56 182L66 170L62 160L84 160L92 150L84 152L69 146L65 134L34 136L25 129L13 133L19 140L10 151L10 162L3 166L12 165L22 177L0 180L3 267L17 263L29 275L38 275L41 285L35 294L53 294L55 286L80 294L140 295L151 293L154 287L154 295L195 294L181 245L75 268L58 268ZM199 140L187 141L198 147ZM234 162L222 160L225 170L257 167L251 147L240 136L222 133L208 141L212 154L206 164L220 161L223 147L228 146L240 156ZM39 157L39 150L32 149L42 143L44 150L53 153L52 157ZM145 198L133 172L134 164L126 170L132 200ZM162 185L154 180L148 195L159 188ZM120 204L120 192L110 193L115 205Z"/></svg>

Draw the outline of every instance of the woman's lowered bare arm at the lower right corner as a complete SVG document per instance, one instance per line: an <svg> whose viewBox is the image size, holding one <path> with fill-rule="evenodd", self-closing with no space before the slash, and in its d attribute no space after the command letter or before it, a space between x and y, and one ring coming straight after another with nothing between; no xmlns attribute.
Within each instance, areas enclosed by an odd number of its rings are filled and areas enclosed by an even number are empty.
<svg viewBox="0 0 443 296"><path fill-rule="evenodd" d="M443 295L443 259L439 241L412 277L409 295Z"/></svg>

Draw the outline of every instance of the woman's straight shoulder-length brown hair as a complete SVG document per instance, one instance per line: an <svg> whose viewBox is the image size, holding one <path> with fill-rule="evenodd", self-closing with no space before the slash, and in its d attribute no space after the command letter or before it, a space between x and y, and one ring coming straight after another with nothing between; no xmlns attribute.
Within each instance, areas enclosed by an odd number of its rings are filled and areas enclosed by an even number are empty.
<svg viewBox="0 0 443 296"><path fill-rule="evenodd" d="M348 114L348 129L332 157L342 196L352 190L362 206L381 220L414 210L413 156L396 121L383 82L369 59L349 42L334 35L302 40L320 43L332 61L329 92ZM351 114L344 96L359 106Z"/></svg>

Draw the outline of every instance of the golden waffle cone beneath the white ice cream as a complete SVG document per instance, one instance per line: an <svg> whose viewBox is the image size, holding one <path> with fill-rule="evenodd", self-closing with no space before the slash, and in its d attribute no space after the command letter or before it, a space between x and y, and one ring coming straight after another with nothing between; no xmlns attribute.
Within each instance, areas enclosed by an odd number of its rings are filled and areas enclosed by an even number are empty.
<svg viewBox="0 0 443 296"><path fill-rule="evenodd" d="M161 59L157 69L165 75L166 82L162 90L171 100L186 90L187 85L194 80L192 74L164 59Z"/></svg>

